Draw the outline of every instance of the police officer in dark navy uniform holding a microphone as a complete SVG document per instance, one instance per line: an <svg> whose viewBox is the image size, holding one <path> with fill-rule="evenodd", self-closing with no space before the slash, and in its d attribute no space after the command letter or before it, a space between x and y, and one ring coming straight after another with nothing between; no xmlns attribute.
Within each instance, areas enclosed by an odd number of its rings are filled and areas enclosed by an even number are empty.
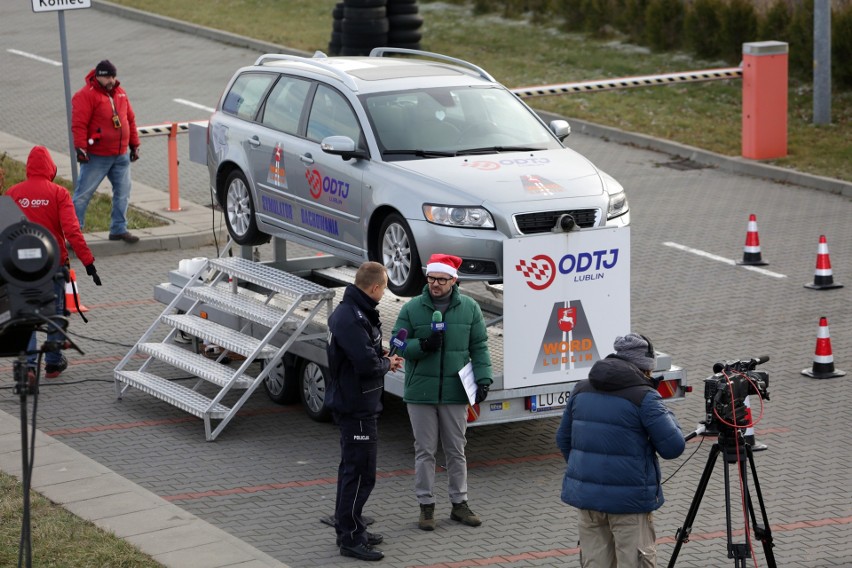
<svg viewBox="0 0 852 568"><path fill-rule="evenodd" d="M397 355L382 349L382 324L376 306L388 285L385 267L365 262L346 287L343 300L328 318L326 402L340 428L335 529L341 556L376 561L380 534L367 532L361 512L376 485L378 417L388 371L402 367Z"/></svg>

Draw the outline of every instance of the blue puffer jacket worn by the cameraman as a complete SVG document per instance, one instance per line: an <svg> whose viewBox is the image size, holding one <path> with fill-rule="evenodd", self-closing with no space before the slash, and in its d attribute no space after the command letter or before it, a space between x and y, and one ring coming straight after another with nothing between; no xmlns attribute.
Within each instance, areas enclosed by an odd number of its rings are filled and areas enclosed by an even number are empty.
<svg viewBox="0 0 852 568"><path fill-rule="evenodd" d="M609 355L568 398L556 433L567 468L562 501L603 513L662 506L657 453L673 459L685 442L677 419L635 365Z"/></svg>

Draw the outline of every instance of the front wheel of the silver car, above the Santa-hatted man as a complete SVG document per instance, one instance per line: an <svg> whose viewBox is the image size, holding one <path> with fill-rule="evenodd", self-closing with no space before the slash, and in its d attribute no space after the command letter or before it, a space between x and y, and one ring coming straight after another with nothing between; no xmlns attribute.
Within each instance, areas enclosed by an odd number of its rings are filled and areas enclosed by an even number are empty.
<svg viewBox="0 0 852 568"><path fill-rule="evenodd" d="M388 290L397 296L415 296L426 279L420 266L420 255L408 223L400 215L387 216L379 231L376 259L388 271Z"/></svg>

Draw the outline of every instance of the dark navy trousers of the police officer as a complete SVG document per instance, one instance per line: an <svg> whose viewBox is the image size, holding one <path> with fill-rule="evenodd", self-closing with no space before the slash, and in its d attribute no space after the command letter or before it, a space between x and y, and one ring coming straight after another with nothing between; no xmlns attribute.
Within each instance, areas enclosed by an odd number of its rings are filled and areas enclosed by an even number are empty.
<svg viewBox="0 0 852 568"><path fill-rule="evenodd" d="M361 518L361 512L376 486L378 424L375 418L341 415L335 418L340 428L340 465L337 468L334 519L341 542L355 546L367 542L367 525Z"/></svg>

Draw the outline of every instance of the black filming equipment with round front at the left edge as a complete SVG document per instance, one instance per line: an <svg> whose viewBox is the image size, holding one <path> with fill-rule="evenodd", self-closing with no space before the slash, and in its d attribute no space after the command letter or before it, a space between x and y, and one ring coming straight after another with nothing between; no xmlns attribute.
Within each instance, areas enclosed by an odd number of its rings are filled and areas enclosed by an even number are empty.
<svg viewBox="0 0 852 568"><path fill-rule="evenodd" d="M39 326L67 327L56 315L54 282L60 278L65 269L53 235L27 221L11 197L0 196L0 357L25 351Z"/></svg>

